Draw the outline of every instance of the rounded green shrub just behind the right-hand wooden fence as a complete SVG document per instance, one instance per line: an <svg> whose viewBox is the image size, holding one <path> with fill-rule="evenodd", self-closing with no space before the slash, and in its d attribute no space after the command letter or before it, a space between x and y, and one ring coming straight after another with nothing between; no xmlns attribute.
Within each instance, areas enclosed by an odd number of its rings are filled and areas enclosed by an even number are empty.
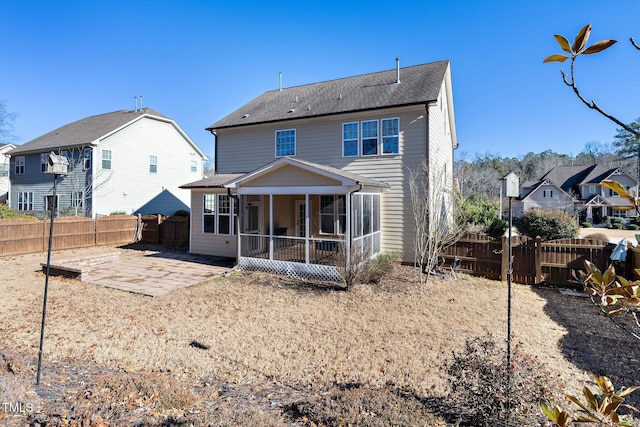
<svg viewBox="0 0 640 427"><path fill-rule="evenodd" d="M531 238L540 236L542 240L574 238L578 235L578 225L571 215L542 209L524 212L518 221L518 230Z"/></svg>

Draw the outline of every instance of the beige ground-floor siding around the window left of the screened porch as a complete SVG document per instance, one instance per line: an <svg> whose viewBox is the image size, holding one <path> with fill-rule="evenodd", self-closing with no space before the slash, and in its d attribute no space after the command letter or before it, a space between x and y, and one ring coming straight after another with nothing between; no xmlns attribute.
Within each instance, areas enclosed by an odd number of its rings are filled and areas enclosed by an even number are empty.
<svg viewBox="0 0 640 427"><path fill-rule="evenodd" d="M191 241L189 252L200 255L213 255L235 258L236 236L203 232L203 202L205 194L227 194L225 189L191 190Z"/></svg>

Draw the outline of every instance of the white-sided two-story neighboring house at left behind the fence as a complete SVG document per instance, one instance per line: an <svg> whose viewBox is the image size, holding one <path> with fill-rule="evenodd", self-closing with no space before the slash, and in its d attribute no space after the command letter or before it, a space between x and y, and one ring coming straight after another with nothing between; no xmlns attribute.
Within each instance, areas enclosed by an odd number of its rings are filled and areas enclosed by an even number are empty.
<svg viewBox="0 0 640 427"><path fill-rule="evenodd" d="M9 151L11 207L50 209L51 152L69 160L69 174L58 180L57 211L88 217L189 210L189 191L180 185L202 178L206 160L176 122L150 108L91 116Z"/></svg>

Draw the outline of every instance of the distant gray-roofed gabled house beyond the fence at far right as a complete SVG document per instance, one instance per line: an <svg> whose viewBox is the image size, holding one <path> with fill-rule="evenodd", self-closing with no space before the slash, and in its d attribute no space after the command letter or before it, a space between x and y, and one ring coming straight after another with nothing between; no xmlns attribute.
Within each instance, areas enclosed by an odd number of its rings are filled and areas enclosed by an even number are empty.
<svg viewBox="0 0 640 427"><path fill-rule="evenodd" d="M595 224L607 216L635 218L636 211L628 200L602 186L607 179L619 182L627 190L635 190L638 185L627 173L602 165L556 166L538 181L521 186L515 216L538 208L562 210Z"/></svg>

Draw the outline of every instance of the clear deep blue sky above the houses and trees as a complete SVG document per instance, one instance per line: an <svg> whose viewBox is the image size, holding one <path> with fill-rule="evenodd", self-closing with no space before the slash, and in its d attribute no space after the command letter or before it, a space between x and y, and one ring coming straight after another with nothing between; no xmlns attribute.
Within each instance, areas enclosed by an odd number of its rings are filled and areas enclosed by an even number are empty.
<svg viewBox="0 0 640 427"><path fill-rule="evenodd" d="M637 0L0 0L0 99L25 143L81 118L134 107L174 119L209 156L204 129L265 91L448 59L458 155L576 155L616 125L561 80L553 34L617 39L579 58L588 99L640 116Z"/></svg>

